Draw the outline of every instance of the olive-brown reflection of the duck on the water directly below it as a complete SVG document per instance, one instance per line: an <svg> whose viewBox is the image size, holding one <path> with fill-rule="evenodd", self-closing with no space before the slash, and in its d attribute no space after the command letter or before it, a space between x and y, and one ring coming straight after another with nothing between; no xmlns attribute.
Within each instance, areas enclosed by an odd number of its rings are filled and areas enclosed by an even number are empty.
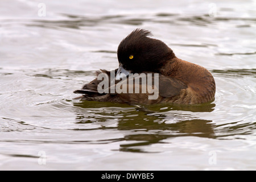
<svg viewBox="0 0 256 182"><path fill-rule="evenodd" d="M74 103L77 112L76 123L86 125L92 122L107 122L113 119L114 113L117 114L118 123L115 127L123 131L124 144L120 145L120 151L147 152L143 147L154 143L161 143L162 140L171 137L196 136L205 138L214 138L213 124L210 120L199 119L193 115L182 114L181 110L193 112L210 112L214 110L215 104L206 104L204 106L172 106L164 111L160 110L164 106L134 107L129 105L119 105L106 102L76 102ZM170 106L169 106L170 107ZM104 108L104 109L102 109ZM106 108L108 110L106 111ZM112 110L113 108L113 110ZM117 108L123 111L119 112ZM159 109L160 108L160 109ZM83 110L100 111L101 117L94 118L93 114L89 116L82 114ZM102 110L101 110L102 109ZM175 114L175 111L176 114ZM88 122L89 121L89 122ZM98 129L107 129L98 127ZM113 130L113 127L111 127ZM127 143L127 144L126 144Z"/></svg>

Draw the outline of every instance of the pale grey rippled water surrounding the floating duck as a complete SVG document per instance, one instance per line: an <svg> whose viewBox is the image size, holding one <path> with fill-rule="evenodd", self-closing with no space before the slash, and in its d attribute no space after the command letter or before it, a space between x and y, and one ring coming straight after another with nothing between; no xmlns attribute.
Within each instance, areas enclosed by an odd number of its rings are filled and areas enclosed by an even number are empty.
<svg viewBox="0 0 256 182"><path fill-rule="evenodd" d="M1 170L256 169L256 1L39 3L0 2ZM209 69L215 101L72 100L135 28Z"/></svg>

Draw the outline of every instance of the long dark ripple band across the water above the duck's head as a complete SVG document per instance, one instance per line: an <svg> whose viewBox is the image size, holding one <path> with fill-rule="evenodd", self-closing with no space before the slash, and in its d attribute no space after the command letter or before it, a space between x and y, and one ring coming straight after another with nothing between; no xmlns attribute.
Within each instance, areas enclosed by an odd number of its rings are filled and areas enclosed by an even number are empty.
<svg viewBox="0 0 256 182"><path fill-rule="evenodd" d="M127 15L95 15L95 16L85 16L85 15L75 15L75 14L60 14L67 20L33 20L32 22L26 22L26 26L38 26L43 28L75 28L80 29L80 27L94 27L99 24L129 24L133 26L141 26L143 23L164 23L172 25L184 25L184 23L192 24L193 26L211 26L211 24L219 22L232 22L232 21L242 21L247 24L239 25L237 28L250 27L251 23L255 23L255 18L243 18L243 17L209 17L208 14L204 15L189 15L184 14L170 14L170 13L156 13L150 15L141 15L138 18L137 15L130 14ZM3 20L5 22L5 20ZM9 20L10 21L10 20ZM24 21L24 20L23 20ZM22 21L22 23L24 23Z"/></svg>

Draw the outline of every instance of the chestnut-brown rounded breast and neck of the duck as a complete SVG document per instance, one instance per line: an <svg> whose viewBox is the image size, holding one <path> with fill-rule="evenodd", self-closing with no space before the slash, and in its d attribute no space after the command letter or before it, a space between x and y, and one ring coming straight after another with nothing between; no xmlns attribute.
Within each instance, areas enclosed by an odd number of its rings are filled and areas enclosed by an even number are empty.
<svg viewBox="0 0 256 182"><path fill-rule="evenodd" d="M212 74L204 67L175 58L165 65L162 74L176 78L188 86L181 90L179 96L166 98L164 102L203 104L214 100L215 81Z"/></svg>

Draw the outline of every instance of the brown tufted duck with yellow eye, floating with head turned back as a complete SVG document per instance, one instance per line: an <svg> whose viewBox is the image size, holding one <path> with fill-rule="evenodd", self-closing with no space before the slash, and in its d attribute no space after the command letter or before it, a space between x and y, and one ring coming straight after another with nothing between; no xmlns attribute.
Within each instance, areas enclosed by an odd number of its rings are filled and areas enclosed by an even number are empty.
<svg viewBox="0 0 256 182"><path fill-rule="evenodd" d="M73 92L81 94L75 99L130 105L198 105L214 101L216 84L212 74L176 57L148 30L137 28L126 36L118 46L117 58L117 69L97 71L94 80Z"/></svg>

